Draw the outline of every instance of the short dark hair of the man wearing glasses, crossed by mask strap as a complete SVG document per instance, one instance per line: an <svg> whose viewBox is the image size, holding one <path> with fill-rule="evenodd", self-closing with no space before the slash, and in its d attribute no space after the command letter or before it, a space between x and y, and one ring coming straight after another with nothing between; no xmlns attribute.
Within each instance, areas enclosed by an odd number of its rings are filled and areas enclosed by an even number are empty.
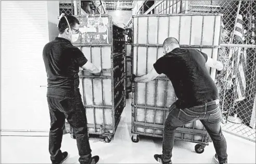
<svg viewBox="0 0 256 164"><path fill-rule="evenodd" d="M75 18L74 16L65 16L68 21L69 21L69 25L70 28L73 28L75 26L75 24L80 24L79 20L77 18ZM62 17L59 21L59 25L58 25L58 29L59 29L59 33L62 34L63 32L65 32L65 30L67 28L69 28L68 22L66 20L65 17Z"/></svg>

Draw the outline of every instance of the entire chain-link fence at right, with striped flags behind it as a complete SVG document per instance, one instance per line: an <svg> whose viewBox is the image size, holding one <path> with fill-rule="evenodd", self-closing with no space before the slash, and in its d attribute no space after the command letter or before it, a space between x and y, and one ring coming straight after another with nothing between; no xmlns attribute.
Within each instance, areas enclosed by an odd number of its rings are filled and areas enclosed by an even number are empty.
<svg viewBox="0 0 256 164"><path fill-rule="evenodd" d="M187 13L222 13L223 30L217 75L223 130L255 142L255 1L190 1Z"/></svg>

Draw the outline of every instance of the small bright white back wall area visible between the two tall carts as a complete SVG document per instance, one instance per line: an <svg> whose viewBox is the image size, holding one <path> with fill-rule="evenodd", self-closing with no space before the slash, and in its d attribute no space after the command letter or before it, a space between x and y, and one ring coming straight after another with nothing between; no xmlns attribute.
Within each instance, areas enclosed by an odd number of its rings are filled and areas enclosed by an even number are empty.
<svg viewBox="0 0 256 164"><path fill-rule="evenodd" d="M132 11L130 10L108 10L108 14L112 16L115 23L123 23L124 25L129 21L132 16ZM123 27L123 25L122 25Z"/></svg>

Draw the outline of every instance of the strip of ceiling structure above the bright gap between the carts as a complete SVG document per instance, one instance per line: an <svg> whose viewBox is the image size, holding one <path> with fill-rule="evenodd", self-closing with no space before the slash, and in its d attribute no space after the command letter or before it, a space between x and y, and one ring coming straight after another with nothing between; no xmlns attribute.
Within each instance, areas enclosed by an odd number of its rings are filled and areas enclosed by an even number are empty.
<svg viewBox="0 0 256 164"><path fill-rule="evenodd" d="M134 1L105 1L106 10L132 10Z"/></svg>

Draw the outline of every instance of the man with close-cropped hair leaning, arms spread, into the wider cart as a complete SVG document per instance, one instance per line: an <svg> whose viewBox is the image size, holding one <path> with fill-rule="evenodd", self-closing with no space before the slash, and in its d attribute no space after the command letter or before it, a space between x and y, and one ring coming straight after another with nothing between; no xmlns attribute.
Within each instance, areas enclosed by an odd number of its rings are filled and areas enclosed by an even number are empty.
<svg viewBox="0 0 256 164"><path fill-rule="evenodd" d="M165 74L172 82L178 100L172 104L163 132L162 155L154 157L160 163L172 163L174 133L177 127L200 120L207 129L216 151L215 160L227 163L227 145L221 131L221 110L219 93L207 66L218 71L223 64L196 49L183 49L177 39L169 37L163 43L164 56L159 58L153 69L146 75L131 80L147 83L160 74ZM198 151L202 151L200 147Z"/></svg>

